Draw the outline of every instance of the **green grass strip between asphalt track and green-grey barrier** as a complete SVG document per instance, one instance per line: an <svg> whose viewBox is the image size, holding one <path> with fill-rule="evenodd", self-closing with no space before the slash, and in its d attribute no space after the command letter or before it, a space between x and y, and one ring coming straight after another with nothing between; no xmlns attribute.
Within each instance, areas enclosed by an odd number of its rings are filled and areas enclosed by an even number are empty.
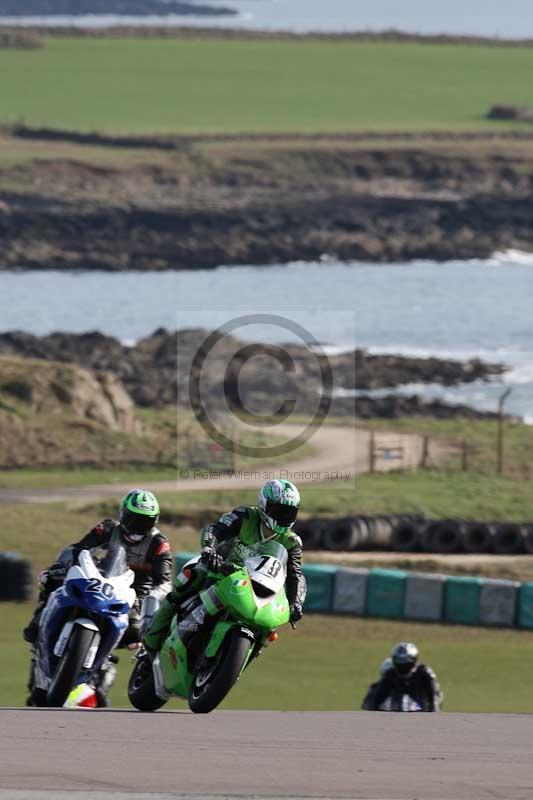
<svg viewBox="0 0 533 800"><path fill-rule="evenodd" d="M20 706L29 655L21 629L31 606L2 603L0 611L0 706ZM264 651L221 707L356 710L383 658L404 639L415 641L436 671L446 711L533 712L530 633L312 615L296 631L280 630L279 641ZM127 707L130 656L119 656L111 699L114 706ZM183 708L184 703L171 700L168 707Z"/></svg>

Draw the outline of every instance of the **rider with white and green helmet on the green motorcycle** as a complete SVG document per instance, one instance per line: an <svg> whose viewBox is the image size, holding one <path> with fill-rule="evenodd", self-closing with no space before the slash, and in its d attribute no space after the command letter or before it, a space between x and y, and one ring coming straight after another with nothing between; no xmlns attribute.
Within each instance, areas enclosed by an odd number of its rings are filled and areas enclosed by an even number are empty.
<svg viewBox="0 0 533 800"><path fill-rule="evenodd" d="M207 570L217 572L226 558L234 551L237 541L243 544L274 539L288 553L287 580L285 590L291 611L291 621L302 617L306 594L306 582L302 573L302 540L293 532L300 507L300 493L296 486L286 480L270 480L259 492L258 506L239 506L223 514L213 525L202 530L200 542L202 557L196 570L180 572L170 594L163 600L152 624L144 637L149 651L159 650L165 641L172 618L184 597L194 588L198 591ZM205 621L206 610L197 606L180 622L179 633L187 641L198 632Z"/></svg>

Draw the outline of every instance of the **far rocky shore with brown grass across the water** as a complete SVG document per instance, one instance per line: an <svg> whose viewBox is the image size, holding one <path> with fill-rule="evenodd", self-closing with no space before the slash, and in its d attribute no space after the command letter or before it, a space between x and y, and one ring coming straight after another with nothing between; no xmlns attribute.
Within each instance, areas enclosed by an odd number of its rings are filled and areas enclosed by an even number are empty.
<svg viewBox="0 0 533 800"><path fill-rule="evenodd" d="M88 161L83 136L4 133L7 144L52 149L0 169L0 269L533 251L532 134L101 137L99 152L113 154L105 163Z"/></svg>

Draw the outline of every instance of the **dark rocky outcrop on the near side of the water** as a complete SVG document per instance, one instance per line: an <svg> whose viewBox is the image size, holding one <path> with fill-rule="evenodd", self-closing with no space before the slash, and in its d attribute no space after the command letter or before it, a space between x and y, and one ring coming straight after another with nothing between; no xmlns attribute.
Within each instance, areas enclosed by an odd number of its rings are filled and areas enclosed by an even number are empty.
<svg viewBox="0 0 533 800"><path fill-rule="evenodd" d="M432 416L439 418L484 418L485 414L465 406L439 401L425 402L419 396L351 396L355 390L374 390L413 382L445 386L501 375L501 364L477 359L467 362L395 355L369 355L364 350L332 355L325 365L331 370L327 386L324 358L301 345L254 344L243 355L244 342L227 336L208 352L209 332L201 329L178 332L159 329L133 346L101 333L55 333L37 337L13 331L0 334L0 356L41 359L76 364L92 370L106 370L120 379L137 406L163 408L178 404L188 407L189 380L201 371L202 402L213 413L224 411L228 402L242 404L255 414L272 414L286 399L294 400L296 413L314 413L321 393L332 396L331 413L340 416L397 418ZM247 343L249 345L249 343ZM200 367L199 355L205 355ZM250 357L253 356L253 357ZM233 364L235 380L228 381ZM324 381L326 375L326 381ZM238 383L238 396L232 385ZM326 383L326 386L324 384Z"/></svg>

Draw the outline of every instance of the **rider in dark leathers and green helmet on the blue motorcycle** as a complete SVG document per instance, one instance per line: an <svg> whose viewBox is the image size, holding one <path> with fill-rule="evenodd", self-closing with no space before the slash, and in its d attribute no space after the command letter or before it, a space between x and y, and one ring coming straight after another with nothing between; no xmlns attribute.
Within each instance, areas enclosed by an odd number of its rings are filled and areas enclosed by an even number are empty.
<svg viewBox="0 0 533 800"><path fill-rule="evenodd" d="M105 549L115 534L124 544L128 566L135 573L133 588L137 593L135 604L129 612L129 626L119 646L126 647L140 641L162 598L172 588L172 552L168 539L156 527L158 520L159 503L155 495L145 489L129 491L120 503L117 520L104 519L99 522L80 541L66 547L58 560L41 572L39 604L31 621L24 628L24 639L35 645L40 617L48 597L63 584L69 567L76 562L81 550ZM107 690L114 677L114 667L110 664L104 665L102 681L96 687L103 705L106 704ZM43 699L42 690L33 687L32 678L28 688L28 705Z"/></svg>

